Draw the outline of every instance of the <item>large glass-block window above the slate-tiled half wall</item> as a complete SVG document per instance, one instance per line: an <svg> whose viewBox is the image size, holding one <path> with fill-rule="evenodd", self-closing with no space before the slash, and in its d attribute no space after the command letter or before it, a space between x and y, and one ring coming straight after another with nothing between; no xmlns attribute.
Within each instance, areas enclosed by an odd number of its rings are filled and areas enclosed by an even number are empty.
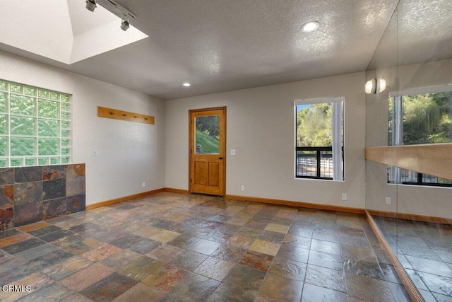
<svg viewBox="0 0 452 302"><path fill-rule="evenodd" d="M71 163L70 100L0 80L0 168Z"/></svg>

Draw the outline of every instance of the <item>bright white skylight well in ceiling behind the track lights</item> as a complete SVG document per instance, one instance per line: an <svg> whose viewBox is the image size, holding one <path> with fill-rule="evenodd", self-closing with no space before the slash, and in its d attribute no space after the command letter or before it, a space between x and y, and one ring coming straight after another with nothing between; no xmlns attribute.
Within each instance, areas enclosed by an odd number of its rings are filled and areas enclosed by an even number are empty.
<svg viewBox="0 0 452 302"><path fill-rule="evenodd" d="M65 64L73 64L148 37L100 5L80 0L2 1L0 42Z"/></svg>

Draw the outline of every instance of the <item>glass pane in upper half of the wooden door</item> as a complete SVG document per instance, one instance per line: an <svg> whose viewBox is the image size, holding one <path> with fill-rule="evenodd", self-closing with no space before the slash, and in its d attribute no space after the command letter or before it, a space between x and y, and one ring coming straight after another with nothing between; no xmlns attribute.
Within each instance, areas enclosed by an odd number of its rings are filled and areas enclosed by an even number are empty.
<svg viewBox="0 0 452 302"><path fill-rule="evenodd" d="M195 117L195 153L220 152L220 115Z"/></svg>

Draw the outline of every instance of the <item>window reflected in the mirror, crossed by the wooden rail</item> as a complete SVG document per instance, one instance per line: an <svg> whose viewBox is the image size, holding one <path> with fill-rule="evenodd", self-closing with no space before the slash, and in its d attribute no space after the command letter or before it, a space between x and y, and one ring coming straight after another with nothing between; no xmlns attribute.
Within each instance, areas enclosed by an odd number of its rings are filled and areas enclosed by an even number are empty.
<svg viewBox="0 0 452 302"><path fill-rule="evenodd" d="M452 141L452 92L419 90L390 95L389 146L438 144ZM416 173L402 168L388 168L389 183L452 187L452 180Z"/></svg>

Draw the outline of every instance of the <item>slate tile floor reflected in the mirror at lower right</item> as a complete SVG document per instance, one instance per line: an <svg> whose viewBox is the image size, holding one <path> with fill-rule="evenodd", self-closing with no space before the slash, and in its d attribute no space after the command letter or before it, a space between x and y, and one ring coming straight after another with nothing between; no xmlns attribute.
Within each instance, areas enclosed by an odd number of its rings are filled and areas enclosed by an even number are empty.
<svg viewBox="0 0 452 302"><path fill-rule="evenodd" d="M452 226L374 216L425 301L452 301Z"/></svg>

